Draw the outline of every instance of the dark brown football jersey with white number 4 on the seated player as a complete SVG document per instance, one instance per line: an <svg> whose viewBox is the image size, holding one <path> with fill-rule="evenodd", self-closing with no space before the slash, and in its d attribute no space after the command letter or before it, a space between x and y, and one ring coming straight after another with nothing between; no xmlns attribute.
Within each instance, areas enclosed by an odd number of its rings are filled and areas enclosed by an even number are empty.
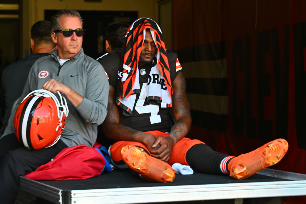
<svg viewBox="0 0 306 204"><path fill-rule="evenodd" d="M115 90L117 90L118 86L118 74L121 74L118 73L120 68L120 57L119 54L112 51L98 60L107 72L109 83ZM167 50L167 58L172 83L180 72L181 65L174 52ZM152 130L170 132L174 124L171 109L168 107L162 108L160 104L152 105L147 101L146 88L144 87L148 84L159 83L161 88L166 88L161 76L156 74L150 76L151 67L152 65L139 67L140 93L136 94L132 115L127 114L125 110L118 106L120 115L119 123L143 132Z"/></svg>

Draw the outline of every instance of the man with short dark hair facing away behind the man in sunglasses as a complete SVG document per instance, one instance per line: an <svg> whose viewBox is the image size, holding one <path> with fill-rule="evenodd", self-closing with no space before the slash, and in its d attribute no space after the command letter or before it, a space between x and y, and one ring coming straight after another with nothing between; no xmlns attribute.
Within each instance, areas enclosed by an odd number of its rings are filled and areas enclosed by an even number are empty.
<svg viewBox="0 0 306 204"><path fill-rule="evenodd" d="M24 84L34 62L40 57L48 56L56 50L56 44L51 38L51 22L41 20L31 28L31 53L24 59L8 65L2 73L2 87L0 92L5 98L5 113L2 118L1 134L11 113L13 103L22 94Z"/></svg>

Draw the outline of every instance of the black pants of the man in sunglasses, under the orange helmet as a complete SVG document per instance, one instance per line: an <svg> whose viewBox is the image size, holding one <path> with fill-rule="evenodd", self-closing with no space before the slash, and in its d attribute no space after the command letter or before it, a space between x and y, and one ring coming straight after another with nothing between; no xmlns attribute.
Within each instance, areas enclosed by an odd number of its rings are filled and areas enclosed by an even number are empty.
<svg viewBox="0 0 306 204"><path fill-rule="evenodd" d="M14 203L18 178L48 163L67 146L59 140L55 145L39 150L21 146L15 134L0 139L0 203Z"/></svg>

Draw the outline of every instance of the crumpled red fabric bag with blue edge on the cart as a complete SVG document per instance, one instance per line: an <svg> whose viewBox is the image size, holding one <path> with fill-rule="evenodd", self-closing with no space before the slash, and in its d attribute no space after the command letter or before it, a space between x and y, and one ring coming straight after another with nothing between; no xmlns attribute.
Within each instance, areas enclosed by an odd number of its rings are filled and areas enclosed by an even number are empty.
<svg viewBox="0 0 306 204"><path fill-rule="evenodd" d="M101 145L96 145L94 148L86 145L67 147L47 164L41 165L24 177L32 180L72 180L98 176L105 165L109 166L109 161L101 153L100 147ZM107 152L103 153L109 157ZM105 170L110 171L109 168Z"/></svg>

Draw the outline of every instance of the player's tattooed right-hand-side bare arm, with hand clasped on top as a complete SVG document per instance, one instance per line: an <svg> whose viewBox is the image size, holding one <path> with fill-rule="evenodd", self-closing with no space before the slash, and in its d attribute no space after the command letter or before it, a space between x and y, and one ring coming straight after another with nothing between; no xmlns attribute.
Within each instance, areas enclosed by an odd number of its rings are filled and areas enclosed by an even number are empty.
<svg viewBox="0 0 306 204"><path fill-rule="evenodd" d="M158 136L153 144L161 145L158 150L152 150L151 155L159 158L162 161L168 162L173 146L185 137L191 128L190 105L186 96L186 81L182 72L178 73L173 83L172 97L172 113L174 115L175 124L171 128L170 134L167 137Z"/></svg>

